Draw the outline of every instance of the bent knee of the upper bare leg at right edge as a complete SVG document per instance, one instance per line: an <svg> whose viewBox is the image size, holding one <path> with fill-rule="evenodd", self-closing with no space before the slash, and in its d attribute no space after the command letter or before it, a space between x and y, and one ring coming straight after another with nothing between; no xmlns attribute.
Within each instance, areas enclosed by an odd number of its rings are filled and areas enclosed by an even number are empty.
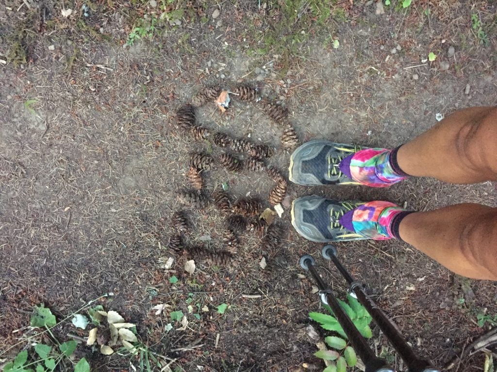
<svg viewBox="0 0 497 372"><path fill-rule="evenodd" d="M456 150L462 165L489 173L497 180L497 107L492 107L461 126Z"/></svg>

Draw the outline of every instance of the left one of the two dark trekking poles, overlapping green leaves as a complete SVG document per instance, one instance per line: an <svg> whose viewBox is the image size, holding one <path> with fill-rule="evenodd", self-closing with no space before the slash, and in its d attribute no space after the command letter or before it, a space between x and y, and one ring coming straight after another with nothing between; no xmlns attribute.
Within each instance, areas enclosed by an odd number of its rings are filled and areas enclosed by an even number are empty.
<svg viewBox="0 0 497 372"><path fill-rule="evenodd" d="M325 284L321 276L319 276L318 271L314 266L315 264L316 261L314 257L309 254L300 257L300 266L304 270L309 271L318 283L321 302L328 305L331 310L333 310L333 314L347 335L350 344L364 363L366 372L395 372L387 365L385 359L378 358L373 350L371 350L364 337L362 337L354 323L352 323L352 320L350 320L345 311L340 307L340 304L338 304L338 301L336 301L331 289Z"/></svg>

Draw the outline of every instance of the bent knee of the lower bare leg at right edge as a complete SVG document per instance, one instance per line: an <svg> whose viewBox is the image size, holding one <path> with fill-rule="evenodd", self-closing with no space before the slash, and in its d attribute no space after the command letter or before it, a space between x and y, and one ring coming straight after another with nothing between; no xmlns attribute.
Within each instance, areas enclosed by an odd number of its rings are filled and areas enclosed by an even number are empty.
<svg viewBox="0 0 497 372"><path fill-rule="evenodd" d="M497 280L497 208L482 212L462 229L459 245L469 262L486 269L489 279Z"/></svg>

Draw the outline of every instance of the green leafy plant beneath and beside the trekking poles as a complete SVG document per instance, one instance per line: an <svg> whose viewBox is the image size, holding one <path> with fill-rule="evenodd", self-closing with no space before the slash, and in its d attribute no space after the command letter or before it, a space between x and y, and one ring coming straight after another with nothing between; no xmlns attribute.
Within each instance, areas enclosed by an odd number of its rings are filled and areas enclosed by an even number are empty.
<svg viewBox="0 0 497 372"><path fill-rule="evenodd" d="M347 300L348 304L338 300L341 308L347 313L361 335L365 338L371 338L372 332L369 327L372 320L371 315L352 296L348 295ZM325 308L331 314L333 313L330 307L325 306ZM357 363L357 356L354 349L348 345L347 335L338 320L332 315L321 312L310 312L309 316L320 323L323 329L335 332L335 334L325 337L326 344L333 350L319 350L314 353L318 358L328 361L328 367L323 372L345 372L347 366L354 367Z"/></svg>

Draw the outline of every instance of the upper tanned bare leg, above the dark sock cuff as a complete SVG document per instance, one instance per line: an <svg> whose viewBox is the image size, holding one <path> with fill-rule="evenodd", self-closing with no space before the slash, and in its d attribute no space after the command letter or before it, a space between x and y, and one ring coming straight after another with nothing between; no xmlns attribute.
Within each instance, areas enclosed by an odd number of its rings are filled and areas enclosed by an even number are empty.
<svg viewBox="0 0 497 372"><path fill-rule="evenodd" d="M455 112L403 145L397 161L411 176L453 184L497 181L497 108Z"/></svg>

